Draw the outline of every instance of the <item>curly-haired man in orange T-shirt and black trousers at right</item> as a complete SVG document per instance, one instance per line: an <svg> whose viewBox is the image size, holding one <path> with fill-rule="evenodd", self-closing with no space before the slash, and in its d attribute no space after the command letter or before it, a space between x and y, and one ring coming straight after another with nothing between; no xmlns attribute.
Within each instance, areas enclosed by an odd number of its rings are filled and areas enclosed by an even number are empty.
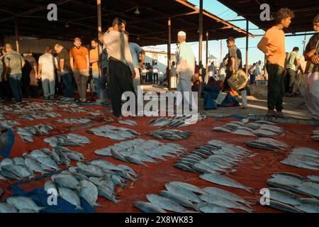
<svg viewBox="0 0 319 227"><path fill-rule="evenodd" d="M294 18L293 11L282 8L276 13L276 26L269 28L262 40L258 43L258 49L267 57L266 69L268 72L268 98L267 116L284 118L282 113L284 97L285 74L285 33L283 28L288 28ZM276 111L274 109L276 108Z"/></svg>

